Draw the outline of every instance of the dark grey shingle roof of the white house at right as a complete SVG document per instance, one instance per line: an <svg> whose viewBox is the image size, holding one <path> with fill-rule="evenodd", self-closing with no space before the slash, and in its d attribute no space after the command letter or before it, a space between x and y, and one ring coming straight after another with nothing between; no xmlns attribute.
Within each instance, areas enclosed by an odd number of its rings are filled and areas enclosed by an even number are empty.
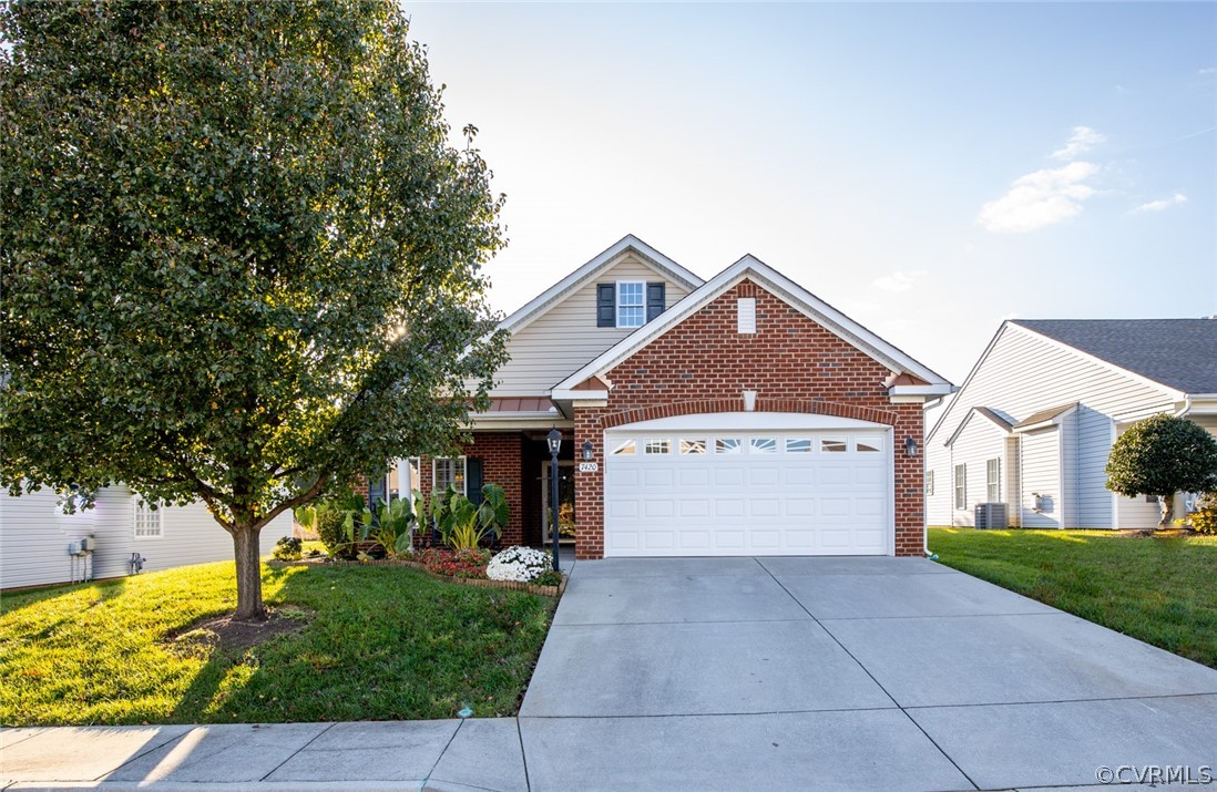
<svg viewBox="0 0 1217 792"><path fill-rule="evenodd" d="M1184 393L1217 393L1217 319L1015 319Z"/></svg>

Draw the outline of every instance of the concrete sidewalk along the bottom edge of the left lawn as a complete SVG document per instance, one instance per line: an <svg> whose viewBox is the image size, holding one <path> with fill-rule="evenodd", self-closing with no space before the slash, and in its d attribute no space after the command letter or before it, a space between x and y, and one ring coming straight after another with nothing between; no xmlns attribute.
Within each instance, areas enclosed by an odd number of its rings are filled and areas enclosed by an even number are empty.
<svg viewBox="0 0 1217 792"><path fill-rule="evenodd" d="M515 718L0 731L7 790L528 790Z"/></svg>

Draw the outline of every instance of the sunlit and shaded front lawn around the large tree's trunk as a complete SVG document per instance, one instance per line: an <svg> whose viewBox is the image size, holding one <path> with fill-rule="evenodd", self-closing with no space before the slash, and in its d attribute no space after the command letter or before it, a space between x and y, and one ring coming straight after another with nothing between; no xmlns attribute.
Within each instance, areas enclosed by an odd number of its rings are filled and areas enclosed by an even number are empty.
<svg viewBox="0 0 1217 792"><path fill-rule="evenodd" d="M231 562L5 595L0 724L510 715L555 606L399 567L263 567L263 586L308 623L245 651L166 641L235 607Z"/></svg>

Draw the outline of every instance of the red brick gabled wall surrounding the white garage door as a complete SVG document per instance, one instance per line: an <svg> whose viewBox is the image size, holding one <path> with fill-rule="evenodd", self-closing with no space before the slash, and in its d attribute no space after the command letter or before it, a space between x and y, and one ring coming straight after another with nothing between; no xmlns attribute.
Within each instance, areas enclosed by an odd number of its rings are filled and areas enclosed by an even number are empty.
<svg viewBox="0 0 1217 792"><path fill-rule="evenodd" d="M736 298L756 298L756 333L736 331ZM920 404L892 404L891 371L786 302L744 280L669 328L605 375L607 406L576 408L574 445L591 440L596 473L576 476L577 555L604 557L606 428L696 412L744 410L744 391L757 392L757 411L835 415L893 427L896 555L924 551L922 456L903 453L922 442Z"/></svg>

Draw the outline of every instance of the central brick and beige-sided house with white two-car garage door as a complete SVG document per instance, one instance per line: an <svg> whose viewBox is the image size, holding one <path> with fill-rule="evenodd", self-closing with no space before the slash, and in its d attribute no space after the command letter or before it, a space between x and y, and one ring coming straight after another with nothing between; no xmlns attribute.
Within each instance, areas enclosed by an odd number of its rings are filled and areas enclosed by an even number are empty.
<svg viewBox="0 0 1217 792"><path fill-rule="evenodd" d="M579 558L924 551L922 405L953 387L751 255L702 281L627 236L501 327L464 454L370 500L493 482L504 543L544 544L556 427Z"/></svg>

